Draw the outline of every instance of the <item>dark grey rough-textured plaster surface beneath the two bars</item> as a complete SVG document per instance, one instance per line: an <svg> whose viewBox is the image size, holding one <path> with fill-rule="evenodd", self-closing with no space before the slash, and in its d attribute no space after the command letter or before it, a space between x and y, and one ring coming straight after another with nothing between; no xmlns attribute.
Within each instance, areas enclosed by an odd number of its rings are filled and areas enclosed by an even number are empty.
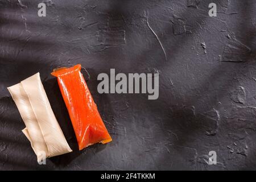
<svg viewBox="0 0 256 182"><path fill-rule="evenodd" d="M256 169L256 1L40 2L0 0L0 169ZM82 151L50 75L77 63L113 137ZM110 68L158 72L159 99L98 94ZM36 72L74 150L41 166L6 89Z"/></svg>

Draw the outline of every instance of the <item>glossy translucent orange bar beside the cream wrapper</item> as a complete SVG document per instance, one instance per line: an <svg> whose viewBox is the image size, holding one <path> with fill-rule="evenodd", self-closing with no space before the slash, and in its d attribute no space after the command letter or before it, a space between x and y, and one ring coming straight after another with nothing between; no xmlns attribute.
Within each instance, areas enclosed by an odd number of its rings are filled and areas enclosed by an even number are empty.
<svg viewBox="0 0 256 182"><path fill-rule="evenodd" d="M92 95L80 72L81 65L71 68L58 68L51 75L56 76L61 94L75 130L79 150L94 143L112 141Z"/></svg>

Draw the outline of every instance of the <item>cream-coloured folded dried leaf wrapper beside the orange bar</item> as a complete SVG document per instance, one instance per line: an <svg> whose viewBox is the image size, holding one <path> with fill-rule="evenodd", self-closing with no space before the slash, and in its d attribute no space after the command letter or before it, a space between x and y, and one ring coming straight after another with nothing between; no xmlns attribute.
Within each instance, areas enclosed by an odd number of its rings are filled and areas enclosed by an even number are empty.
<svg viewBox="0 0 256 182"><path fill-rule="evenodd" d="M38 162L72 152L53 114L39 73L7 89L26 125L22 132L30 140Z"/></svg>

